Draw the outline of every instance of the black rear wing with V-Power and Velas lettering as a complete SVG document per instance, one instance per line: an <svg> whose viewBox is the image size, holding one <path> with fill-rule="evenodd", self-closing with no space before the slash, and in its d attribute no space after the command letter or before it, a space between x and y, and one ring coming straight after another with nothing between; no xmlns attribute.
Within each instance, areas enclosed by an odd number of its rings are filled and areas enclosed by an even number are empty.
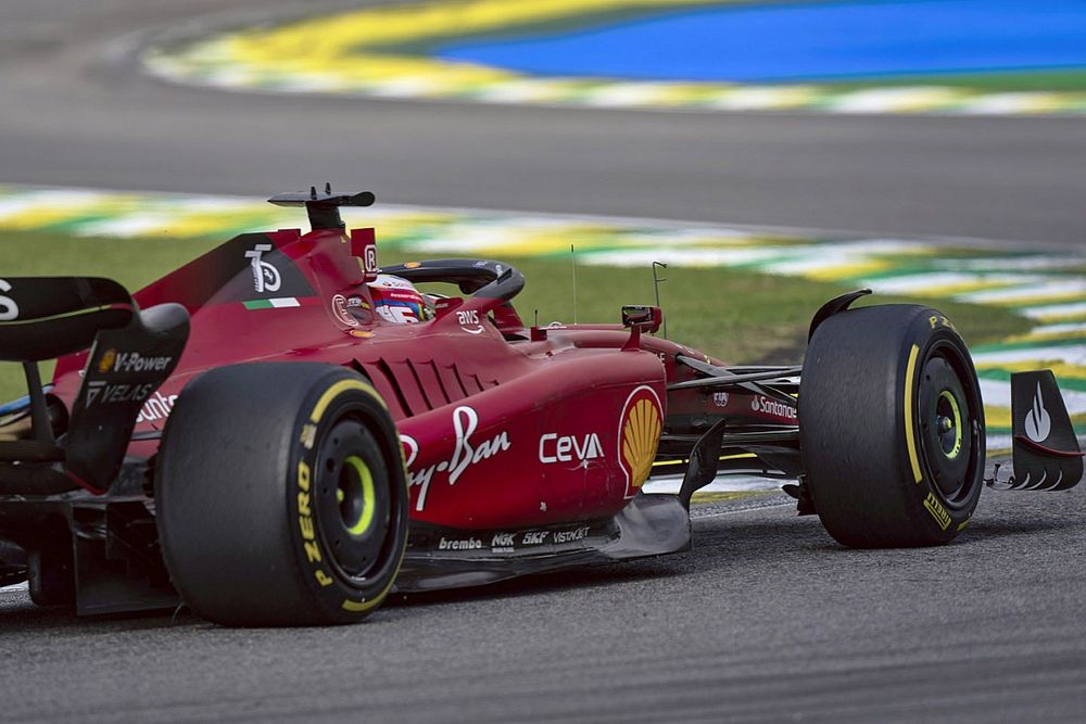
<svg viewBox="0 0 1086 724"><path fill-rule="evenodd" d="M140 407L180 359L188 312L178 304L140 312L124 287L102 278L8 277L0 290L0 360L23 365L28 399L14 417L30 419L29 434L0 440L0 493L105 491ZM38 363L87 347L83 383L58 441Z"/></svg>

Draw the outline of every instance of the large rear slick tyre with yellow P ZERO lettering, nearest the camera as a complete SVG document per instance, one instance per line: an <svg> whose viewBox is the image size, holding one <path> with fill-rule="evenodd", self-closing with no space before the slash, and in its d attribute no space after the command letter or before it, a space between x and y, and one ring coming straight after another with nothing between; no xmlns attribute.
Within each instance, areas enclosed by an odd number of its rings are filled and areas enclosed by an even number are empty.
<svg viewBox="0 0 1086 724"><path fill-rule="evenodd" d="M181 599L226 625L354 623L380 606L407 543L392 418L350 370L212 370L163 436L155 508Z"/></svg>

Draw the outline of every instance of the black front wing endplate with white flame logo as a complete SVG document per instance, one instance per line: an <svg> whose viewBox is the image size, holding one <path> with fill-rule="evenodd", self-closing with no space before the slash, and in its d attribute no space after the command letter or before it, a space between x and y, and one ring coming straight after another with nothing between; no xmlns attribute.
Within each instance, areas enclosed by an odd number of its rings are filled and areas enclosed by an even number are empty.
<svg viewBox="0 0 1086 724"><path fill-rule="evenodd" d="M1083 453L1051 370L1011 374L1014 478L1019 491L1065 491L1083 478Z"/></svg>

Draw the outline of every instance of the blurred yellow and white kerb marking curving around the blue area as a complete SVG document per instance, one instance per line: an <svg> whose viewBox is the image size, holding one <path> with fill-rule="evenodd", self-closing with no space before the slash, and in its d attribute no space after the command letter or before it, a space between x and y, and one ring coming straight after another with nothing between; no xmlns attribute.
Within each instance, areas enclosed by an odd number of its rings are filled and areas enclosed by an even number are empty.
<svg viewBox="0 0 1086 724"><path fill-rule="evenodd" d="M1083 91L994 92L939 86L847 89L833 85L740 85L547 77L413 50L465 35L616 12L691 9L717 0L438 0L369 8L198 38L165 39L142 58L174 82L270 93L318 93L496 104L662 111L803 111L847 114L1081 115ZM320 38L320 42L313 42Z"/></svg>

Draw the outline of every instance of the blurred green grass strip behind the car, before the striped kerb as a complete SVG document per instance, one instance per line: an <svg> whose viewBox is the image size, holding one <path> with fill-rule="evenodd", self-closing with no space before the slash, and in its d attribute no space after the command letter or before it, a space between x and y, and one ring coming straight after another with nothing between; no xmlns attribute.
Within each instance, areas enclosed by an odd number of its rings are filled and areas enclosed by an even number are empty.
<svg viewBox="0 0 1086 724"><path fill-rule="evenodd" d="M0 277L102 276L135 291L195 258L219 240L97 239L45 233L8 233L0 244ZM381 262L417 258L382 251ZM525 323L573 321L568 259L508 258L528 279L515 304ZM724 268L667 269L660 302L674 340L731 364L794 364L803 359L807 326L826 300L848 291L837 284L795 277L771 277ZM870 297L869 297L870 299ZM877 296L876 303L932 300ZM867 303L867 300L864 301ZM617 322L623 304L653 304L648 268L579 266L577 320ZM1003 309L936 301L970 344L1028 331L1027 320ZM43 368L47 378L51 369ZM16 365L0 364L0 401L24 393Z"/></svg>

